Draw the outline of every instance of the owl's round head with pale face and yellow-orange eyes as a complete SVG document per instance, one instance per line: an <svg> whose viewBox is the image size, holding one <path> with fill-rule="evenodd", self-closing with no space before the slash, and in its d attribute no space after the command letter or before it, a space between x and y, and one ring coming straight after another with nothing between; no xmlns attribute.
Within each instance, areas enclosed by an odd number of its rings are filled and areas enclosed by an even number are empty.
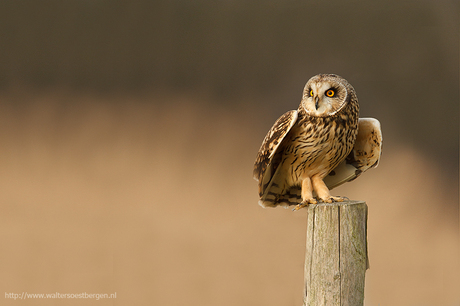
<svg viewBox="0 0 460 306"><path fill-rule="evenodd" d="M347 80L335 74L318 74L305 85L300 106L310 116L333 116L350 99L356 99L356 94Z"/></svg>

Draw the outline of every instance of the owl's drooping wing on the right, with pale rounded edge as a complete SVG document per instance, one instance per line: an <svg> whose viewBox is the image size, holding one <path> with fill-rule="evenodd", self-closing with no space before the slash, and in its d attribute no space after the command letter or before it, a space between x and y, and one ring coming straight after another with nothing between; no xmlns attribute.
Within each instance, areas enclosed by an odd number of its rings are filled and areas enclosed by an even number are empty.
<svg viewBox="0 0 460 306"><path fill-rule="evenodd" d="M374 118L359 118L358 136L348 157L325 178L329 189L354 180L364 171L379 164L382 153L382 130L380 122Z"/></svg>

